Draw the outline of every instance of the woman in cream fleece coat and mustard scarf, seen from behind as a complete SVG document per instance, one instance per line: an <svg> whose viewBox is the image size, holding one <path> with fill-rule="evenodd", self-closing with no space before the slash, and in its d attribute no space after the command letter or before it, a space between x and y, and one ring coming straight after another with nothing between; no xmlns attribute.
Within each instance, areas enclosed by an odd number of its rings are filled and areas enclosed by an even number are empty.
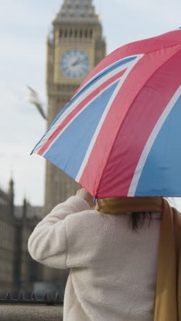
<svg viewBox="0 0 181 321"><path fill-rule="evenodd" d="M93 206L80 189L29 237L33 259L71 269L64 320L181 320L178 212L162 198L111 198Z"/></svg>

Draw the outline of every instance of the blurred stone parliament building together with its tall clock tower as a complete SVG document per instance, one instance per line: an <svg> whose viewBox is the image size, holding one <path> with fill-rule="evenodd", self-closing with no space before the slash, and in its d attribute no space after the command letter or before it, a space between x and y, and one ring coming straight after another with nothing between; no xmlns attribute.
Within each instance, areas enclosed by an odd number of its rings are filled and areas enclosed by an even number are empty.
<svg viewBox="0 0 181 321"><path fill-rule="evenodd" d="M71 63L72 56L77 58L76 65ZM64 0L47 37L47 127L104 56L106 43L93 1ZM43 213L49 213L53 206L75 194L77 188L76 182L47 162ZM23 289L23 285L30 288L30 283L36 281L62 283L60 272L43 268L27 251L27 239L40 220L37 213L42 209L26 201L17 208L13 200L11 180L8 193L0 190L0 295Z"/></svg>

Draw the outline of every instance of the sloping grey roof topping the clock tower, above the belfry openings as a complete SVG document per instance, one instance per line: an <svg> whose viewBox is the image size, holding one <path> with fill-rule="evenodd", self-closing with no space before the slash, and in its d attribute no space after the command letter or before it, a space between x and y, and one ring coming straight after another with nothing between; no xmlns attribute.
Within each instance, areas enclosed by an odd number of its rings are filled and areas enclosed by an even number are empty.
<svg viewBox="0 0 181 321"><path fill-rule="evenodd" d="M99 23L92 0L64 0L53 23Z"/></svg>

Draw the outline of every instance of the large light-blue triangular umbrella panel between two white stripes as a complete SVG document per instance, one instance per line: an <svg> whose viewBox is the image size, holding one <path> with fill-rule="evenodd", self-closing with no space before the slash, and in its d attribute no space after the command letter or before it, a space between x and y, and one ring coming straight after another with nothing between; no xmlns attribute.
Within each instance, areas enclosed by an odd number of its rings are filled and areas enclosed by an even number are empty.
<svg viewBox="0 0 181 321"><path fill-rule="evenodd" d="M47 160L60 167L72 178L77 176L93 134L118 82L90 103L45 154Z"/></svg>

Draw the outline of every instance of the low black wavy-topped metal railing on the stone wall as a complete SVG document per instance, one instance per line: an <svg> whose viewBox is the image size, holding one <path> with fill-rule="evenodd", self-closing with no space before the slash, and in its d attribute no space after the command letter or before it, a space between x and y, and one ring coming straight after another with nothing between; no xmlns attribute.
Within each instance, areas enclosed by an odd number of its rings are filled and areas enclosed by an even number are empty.
<svg viewBox="0 0 181 321"><path fill-rule="evenodd" d="M43 299L36 298L34 292L30 298L25 298L23 292L20 292L18 298L12 298L12 294L8 292L5 299L0 298L0 304L32 304L32 305L63 305L63 300L60 298L60 294L56 293L55 298L49 298L48 294L45 294Z"/></svg>

